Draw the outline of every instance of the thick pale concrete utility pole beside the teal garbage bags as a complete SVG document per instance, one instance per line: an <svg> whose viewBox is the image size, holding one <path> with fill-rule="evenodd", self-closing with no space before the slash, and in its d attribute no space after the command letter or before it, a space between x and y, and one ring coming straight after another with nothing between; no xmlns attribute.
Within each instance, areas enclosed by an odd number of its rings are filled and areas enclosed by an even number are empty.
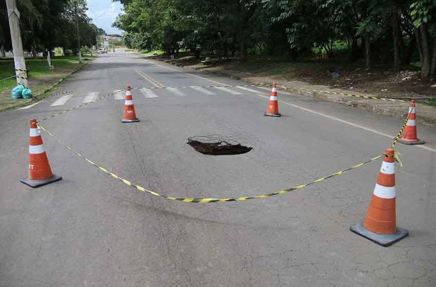
<svg viewBox="0 0 436 287"><path fill-rule="evenodd" d="M12 51L14 53L16 84L27 88L27 70L19 21L20 12L16 8L15 0L6 0L6 7L8 9L9 27L11 30Z"/></svg>

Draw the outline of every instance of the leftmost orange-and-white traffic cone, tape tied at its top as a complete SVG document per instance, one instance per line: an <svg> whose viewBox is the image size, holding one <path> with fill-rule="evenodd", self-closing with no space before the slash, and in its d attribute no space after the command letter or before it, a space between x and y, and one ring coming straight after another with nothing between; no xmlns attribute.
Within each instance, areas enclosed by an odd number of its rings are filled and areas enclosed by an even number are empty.
<svg viewBox="0 0 436 287"><path fill-rule="evenodd" d="M43 140L36 126L36 119L30 120L29 176L20 181L29 187L37 188L61 179L62 177L51 173Z"/></svg>

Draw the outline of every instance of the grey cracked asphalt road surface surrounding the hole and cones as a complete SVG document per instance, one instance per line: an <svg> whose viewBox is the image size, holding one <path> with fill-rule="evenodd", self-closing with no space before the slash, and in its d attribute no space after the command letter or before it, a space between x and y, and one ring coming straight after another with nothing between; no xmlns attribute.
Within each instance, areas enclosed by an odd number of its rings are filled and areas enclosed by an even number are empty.
<svg viewBox="0 0 436 287"><path fill-rule="evenodd" d="M209 86L232 85L229 88ZM173 197L234 197L294 187L389 148L403 120L270 91L117 50L58 92L0 113L0 286L436 286L436 129L398 144L397 224L381 247L349 231L365 217L381 160L286 195L185 203L142 193L42 132L63 180L31 189L29 119L132 87L140 122L122 124L124 92L41 124L111 172ZM198 87L191 87L198 86ZM172 89L166 88L172 87ZM417 108L419 122L419 106ZM212 156L186 144L218 134L253 147Z"/></svg>

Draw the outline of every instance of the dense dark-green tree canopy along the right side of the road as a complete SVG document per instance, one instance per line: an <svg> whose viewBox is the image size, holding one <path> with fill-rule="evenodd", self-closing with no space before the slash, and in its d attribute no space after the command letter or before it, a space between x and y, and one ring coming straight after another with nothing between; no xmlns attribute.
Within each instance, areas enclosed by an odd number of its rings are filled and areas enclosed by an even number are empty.
<svg viewBox="0 0 436 287"><path fill-rule="evenodd" d="M138 49L191 49L205 54L287 53L314 48L350 61L391 62L399 71L419 56L423 78L436 76L434 0L118 0L114 26Z"/></svg>

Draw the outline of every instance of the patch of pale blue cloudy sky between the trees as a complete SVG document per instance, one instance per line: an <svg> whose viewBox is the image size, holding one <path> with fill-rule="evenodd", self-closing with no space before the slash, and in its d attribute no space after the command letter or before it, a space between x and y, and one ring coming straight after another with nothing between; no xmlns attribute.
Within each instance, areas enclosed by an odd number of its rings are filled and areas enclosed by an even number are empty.
<svg viewBox="0 0 436 287"><path fill-rule="evenodd" d="M121 12L122 5L112 0L87 0L86 14L92 18L92 23L102 28L107 34L122 34L121 30L112 27L115 18Z"/></svg>

